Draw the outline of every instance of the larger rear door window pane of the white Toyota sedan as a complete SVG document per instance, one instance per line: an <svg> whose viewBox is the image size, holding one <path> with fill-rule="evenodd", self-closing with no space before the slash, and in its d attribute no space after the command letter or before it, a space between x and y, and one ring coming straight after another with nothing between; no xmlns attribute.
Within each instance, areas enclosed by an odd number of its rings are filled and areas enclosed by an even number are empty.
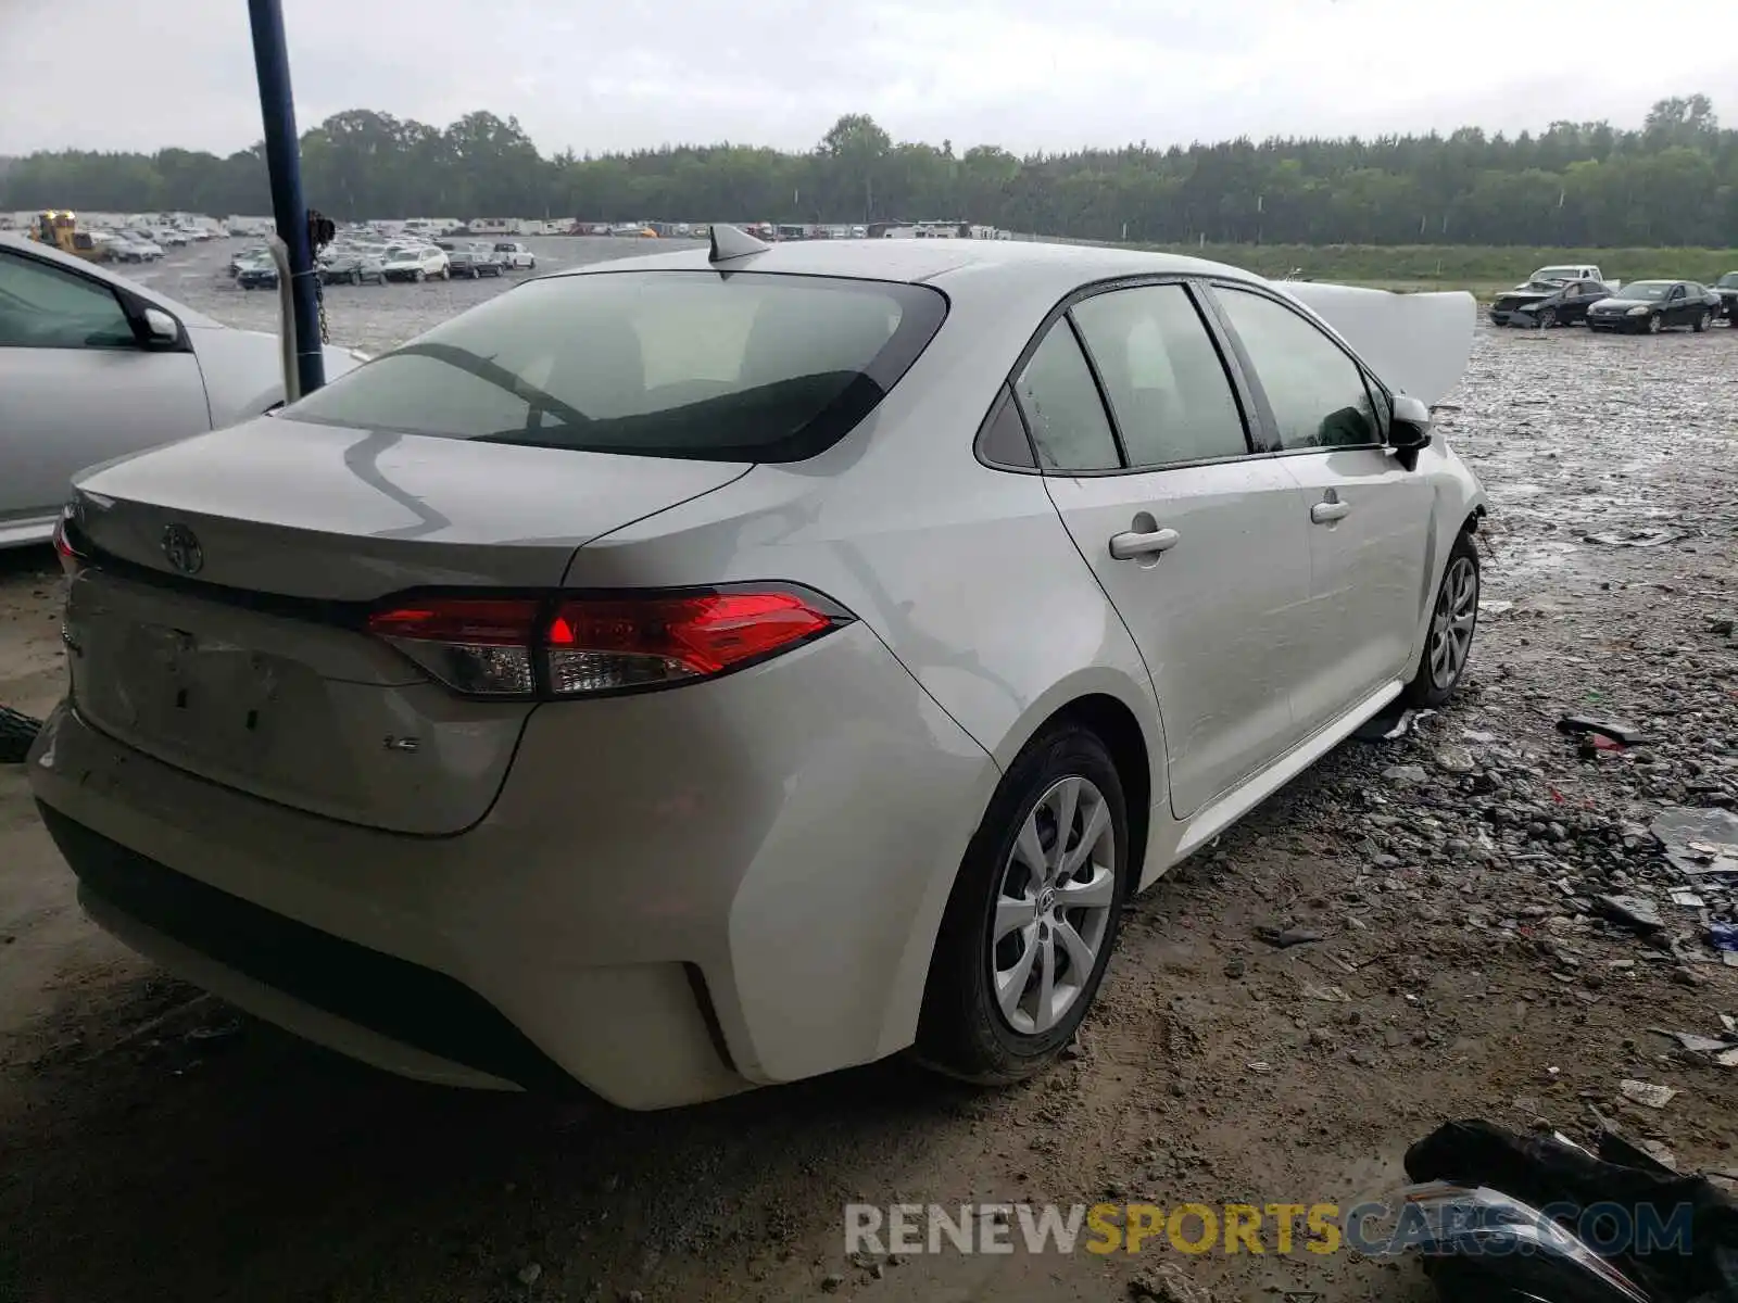
<svg viewBox="0 0 1738 1303"><path fill-rule="evenodd" d="M1182 285L1112 290L1074 308L1130 466L1241 457L1243 412Z"/></svg>

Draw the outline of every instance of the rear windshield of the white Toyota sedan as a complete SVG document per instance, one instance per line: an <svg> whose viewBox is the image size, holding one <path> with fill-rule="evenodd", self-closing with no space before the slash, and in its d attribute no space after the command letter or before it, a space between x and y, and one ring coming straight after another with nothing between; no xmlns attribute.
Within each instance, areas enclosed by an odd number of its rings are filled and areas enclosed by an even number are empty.
<svg viewBox="0 0 1738 1303"><path fill-rule="evenodd" d="M930 287L716 271L554 276L283 408L295 420L641 457L791 462L940 328Z"/></svg>

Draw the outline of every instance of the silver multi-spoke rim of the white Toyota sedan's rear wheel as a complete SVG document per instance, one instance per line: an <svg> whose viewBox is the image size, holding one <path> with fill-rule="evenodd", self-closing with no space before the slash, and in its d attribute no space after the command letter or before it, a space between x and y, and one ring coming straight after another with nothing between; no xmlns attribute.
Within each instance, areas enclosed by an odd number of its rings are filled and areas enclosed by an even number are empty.
<svg viewBox="0 0 1738 1303"><path fill-rule="evenodd" d="M1003 1022L1043 1035L1091 982L1116 903L1116 836L1104 792L1078 775L1038 797L991 910L989 982Z"/></svg>

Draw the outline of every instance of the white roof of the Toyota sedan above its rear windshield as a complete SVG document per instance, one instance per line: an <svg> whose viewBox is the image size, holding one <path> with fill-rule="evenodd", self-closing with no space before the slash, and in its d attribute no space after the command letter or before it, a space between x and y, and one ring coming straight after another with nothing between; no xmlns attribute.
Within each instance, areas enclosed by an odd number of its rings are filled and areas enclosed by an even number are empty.
<svg viewBox="0 0 1738 1303"><path fill-rule="evenodd" d="M850 276L942 287L951 287L952 281L965 278L980 287L996 281L1032 287L1034 281L1041 281L1057 288L1058 295L1074 285L1090 285L1118 276L1227 276L1257 283L1262 280L1239 268L1178 254L1100 245L1051 245L1032 240L787 240L765 252L730 259L725 264L709 262L706 248L685 248L671 254L587 262L553 274L681 269Z"/></svg>

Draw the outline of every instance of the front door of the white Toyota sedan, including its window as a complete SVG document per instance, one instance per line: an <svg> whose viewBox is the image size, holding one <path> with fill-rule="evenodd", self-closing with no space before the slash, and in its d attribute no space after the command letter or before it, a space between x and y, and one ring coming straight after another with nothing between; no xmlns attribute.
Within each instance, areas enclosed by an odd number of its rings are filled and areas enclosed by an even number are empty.
<svg viewBox="0 0 1738 1303"><path fill-rule="evenodd" d="M1394 683L1425 599L1430 485L1385 446L1392 401L1295 304L1217 283L1213 302L1309 535L1309 617L1291 648L1291 709L1312 733Z"/></svg>

